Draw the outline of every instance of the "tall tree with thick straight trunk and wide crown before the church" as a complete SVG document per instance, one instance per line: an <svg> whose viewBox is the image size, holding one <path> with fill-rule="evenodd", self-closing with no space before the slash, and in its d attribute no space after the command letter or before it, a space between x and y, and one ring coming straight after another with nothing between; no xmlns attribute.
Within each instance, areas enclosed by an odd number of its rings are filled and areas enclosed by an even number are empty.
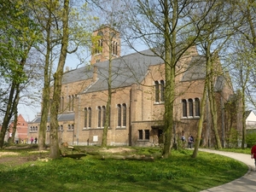
<svg viewBox="0 0 256 192"><path fill-rule="evenodd" d="M140 39L165 61L165 114L164 114L164 157L172 148L172 129L174 127L174 101L177 95L175 77L177 63L195 45L201 31L201 20L212 9L215 1L199 3L177 0L137 0L131 7L129 22L134 39ZM203 14L197 14L197 9ZM181 67L183 68L183 67Z"/></svg>

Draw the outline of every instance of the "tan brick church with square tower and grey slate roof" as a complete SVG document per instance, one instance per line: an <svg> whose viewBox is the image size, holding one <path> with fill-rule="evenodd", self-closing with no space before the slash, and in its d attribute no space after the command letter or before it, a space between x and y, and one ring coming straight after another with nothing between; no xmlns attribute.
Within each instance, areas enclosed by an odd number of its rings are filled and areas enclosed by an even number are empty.
<svg viewBox="0 0 256 192"><path fill-rule="evenodd" d="M109 61L112 70L112 102L109 146L154 146L163 143L165 103L165 64L148 49L140 53L120 55L119 32L104 26L93 32L97 46L92 48L89 66L66 71L62 79L59 108L59 142L72 145L101 145L108 101ZM110 39L110 40L109 40ZM111 44L111 46L109 46ZM200 105L205 82L206 60L195 47L177 63L177 91L173 141L182 134L196 135L201 115ZM218 101L219 136L224 140L230 128L230 113L222 110L234 95L220 63L214 91ZM212 147L215 139L211 115L207 112L202 131L202 145ZM38 137L40 115L29 122L29 136ZM49 122L46 143L49 143Z"/></svg>

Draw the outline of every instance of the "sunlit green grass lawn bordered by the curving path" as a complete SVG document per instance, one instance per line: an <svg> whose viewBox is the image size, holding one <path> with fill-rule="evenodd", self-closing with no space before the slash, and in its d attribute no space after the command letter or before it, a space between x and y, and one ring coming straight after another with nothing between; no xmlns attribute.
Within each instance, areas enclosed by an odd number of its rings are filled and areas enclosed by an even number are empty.
<svg viewBox="0 0 256 192"><path fill-rule="evenodd" d="M247 172L247 166L239 161L204 152L192 159L192 153L172 150L169 159L154 161L85 156L80 160L36 160L19 166L4 163L0 164L0 191L201 191Z"/></svg>

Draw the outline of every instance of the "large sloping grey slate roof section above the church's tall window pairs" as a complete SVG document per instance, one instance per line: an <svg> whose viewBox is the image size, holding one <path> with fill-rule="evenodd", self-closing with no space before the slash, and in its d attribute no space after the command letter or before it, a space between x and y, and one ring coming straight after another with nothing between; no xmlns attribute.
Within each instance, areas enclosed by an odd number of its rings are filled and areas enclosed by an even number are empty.
<svg viewBox="0 0 256 192"><path fill-rule="evenodd" d="M164 61L154 55L150 50L145 50L131 55L125 55L112 61L112 87L125 87L140 83L148 71L148 66L162 64ZM108 61L95 64L97 67L97 81L85 91L94 92L108 89Z"/></svg>

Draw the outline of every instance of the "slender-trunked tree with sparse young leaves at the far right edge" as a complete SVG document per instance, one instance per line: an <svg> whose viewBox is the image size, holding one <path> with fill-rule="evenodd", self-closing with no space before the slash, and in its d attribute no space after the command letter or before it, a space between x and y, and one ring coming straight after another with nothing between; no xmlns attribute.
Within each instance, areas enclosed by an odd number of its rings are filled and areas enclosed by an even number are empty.
<svg viewBox="0 0 256 192"><path fill-rule="evenodd" d="M246 117L247 103L255 105L255 58L256 58L256 31L255 31L255 1L235 1L233 15L236 19L236 36L230 46L230 71L235 77L233 80L241 95L241 148L246 142Z"/></svg>

